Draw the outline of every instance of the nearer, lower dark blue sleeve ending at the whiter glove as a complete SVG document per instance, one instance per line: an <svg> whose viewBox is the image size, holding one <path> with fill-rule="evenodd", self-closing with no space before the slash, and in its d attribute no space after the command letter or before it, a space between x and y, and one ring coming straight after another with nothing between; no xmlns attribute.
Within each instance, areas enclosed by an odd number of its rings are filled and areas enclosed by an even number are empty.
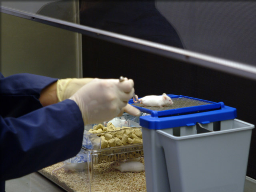
<svg viewBox="0 0 256 192"><path fill-rule="evenodd" d="M75 156L83 132L81 112L72 100L19 118L0 116L0 180L18 178Z"/></svg>

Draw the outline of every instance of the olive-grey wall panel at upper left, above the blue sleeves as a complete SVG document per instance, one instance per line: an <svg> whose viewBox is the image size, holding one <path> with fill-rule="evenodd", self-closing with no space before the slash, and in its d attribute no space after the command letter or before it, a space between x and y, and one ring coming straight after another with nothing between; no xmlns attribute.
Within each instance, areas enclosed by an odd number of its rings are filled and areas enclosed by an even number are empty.
<svg viewBox="0 0 256 192"><path fill-rule="evenodd" d="M1 5L36 13L50 2L53 1L3 1ZM68 2L70 14L74 13L72 9L78 4ZM82 77L81 34L34 22L29 16L27 18L0 13L2 74ZM78 20L74 18L73 22Z"/></svg>

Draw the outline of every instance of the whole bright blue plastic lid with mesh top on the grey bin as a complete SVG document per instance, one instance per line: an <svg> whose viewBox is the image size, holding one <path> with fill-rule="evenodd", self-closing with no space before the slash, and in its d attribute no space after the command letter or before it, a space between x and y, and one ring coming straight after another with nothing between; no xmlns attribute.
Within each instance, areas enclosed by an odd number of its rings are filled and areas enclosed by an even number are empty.
<svg viewBox="0 0 256 192"><path fill-rule="evenodd" d="M149 129L164 129L180 126L192 126L197 122L210 122L236 118L236 108L225 106L223 102L211 102L187 96L168 95L174 104L168 107L145 107L142 104L132 104L148 116L140 117L140 126Z"/></svg>

